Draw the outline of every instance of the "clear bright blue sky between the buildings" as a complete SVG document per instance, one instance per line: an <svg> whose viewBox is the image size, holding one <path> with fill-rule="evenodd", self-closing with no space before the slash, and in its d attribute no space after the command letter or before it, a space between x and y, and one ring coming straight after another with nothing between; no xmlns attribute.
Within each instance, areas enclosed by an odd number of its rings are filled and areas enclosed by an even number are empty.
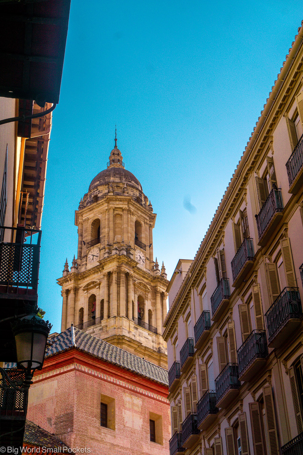
<svg viewBox="0 0 303 455"><path fill-rule="evenodd" d="M303 19L300 0L71 0L53 112L39 301L77 257L75 210L114 147L157 213L154 258L193 259Z"/></svg>

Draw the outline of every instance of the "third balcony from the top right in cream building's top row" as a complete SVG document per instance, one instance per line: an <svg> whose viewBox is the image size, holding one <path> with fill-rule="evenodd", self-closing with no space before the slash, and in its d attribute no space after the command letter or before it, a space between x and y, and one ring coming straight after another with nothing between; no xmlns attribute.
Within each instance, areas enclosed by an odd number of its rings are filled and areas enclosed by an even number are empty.
<svg viewBox="0 0 303 455"><path fill-rule="evenodd" d="M244 238L244 241L238 249L235 257L231 262L233 273L233 288L238 288L243 283L243 279L253 267L253 239Z"/></svg>

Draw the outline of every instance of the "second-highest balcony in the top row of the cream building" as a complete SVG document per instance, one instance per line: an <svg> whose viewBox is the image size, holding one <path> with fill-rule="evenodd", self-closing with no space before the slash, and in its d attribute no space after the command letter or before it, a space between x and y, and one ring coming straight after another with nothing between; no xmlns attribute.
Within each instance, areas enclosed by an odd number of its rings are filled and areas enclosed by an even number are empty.
<svg viewBox="0 0 303 455"><path fill-rule="evenodd" d="M280 219L283 217L283 201L281 190L273 188L264 202L260 212L256 215L258 227L258 245L263 247L268 242Z"/></svg>

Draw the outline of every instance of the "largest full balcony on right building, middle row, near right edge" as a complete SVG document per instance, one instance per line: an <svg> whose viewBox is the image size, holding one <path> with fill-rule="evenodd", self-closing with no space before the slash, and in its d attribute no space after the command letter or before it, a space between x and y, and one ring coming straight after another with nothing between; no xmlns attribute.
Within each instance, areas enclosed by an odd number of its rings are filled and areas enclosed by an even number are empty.
<svg viewBox="0 0 303 455"><path fill-rule="evenodd" d="M298 288L284 288L265 313L268 347L279 348L300 325L302 306Z"/></svg>

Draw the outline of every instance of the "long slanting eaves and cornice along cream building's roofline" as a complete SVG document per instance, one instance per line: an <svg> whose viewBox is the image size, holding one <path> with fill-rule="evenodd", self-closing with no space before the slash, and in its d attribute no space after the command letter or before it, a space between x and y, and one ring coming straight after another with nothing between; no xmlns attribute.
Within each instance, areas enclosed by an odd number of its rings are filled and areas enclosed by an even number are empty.
<svg viewBox="0 0 303 455"><path fill-rule="evenodd" d="M253 128L252 136L249 138L245 151L238 162L233 177L226 188L220 205L214 214L213 220L209 225L209 229L200 244L194 261L189 268L187 275L184 278L179 291L174 298L171 308L164 320L163 338L167 342L175 324L179 318L184 304L191 293L191 287L195 286L199 279L199 274L206 266L209 255L213 251L215 243L223 230L224 224L228 221L230 213L233 210L239 195L243 191L244 185L247 183L249 172L252 171L258 155L262 152L264 144L267 142L268 136L271 135L275 123L281 115L283 106L287 101L288 92L293 88L294 84L303 77L303 21L301 27L298 28L298 35L289 49L289 53L283 62L277 80L274 82L272 91L269 93L266 104L264 104L261 116ZM291 71L292 70L292 71ZM284 90L282 90L284 88Z"/></svg>

